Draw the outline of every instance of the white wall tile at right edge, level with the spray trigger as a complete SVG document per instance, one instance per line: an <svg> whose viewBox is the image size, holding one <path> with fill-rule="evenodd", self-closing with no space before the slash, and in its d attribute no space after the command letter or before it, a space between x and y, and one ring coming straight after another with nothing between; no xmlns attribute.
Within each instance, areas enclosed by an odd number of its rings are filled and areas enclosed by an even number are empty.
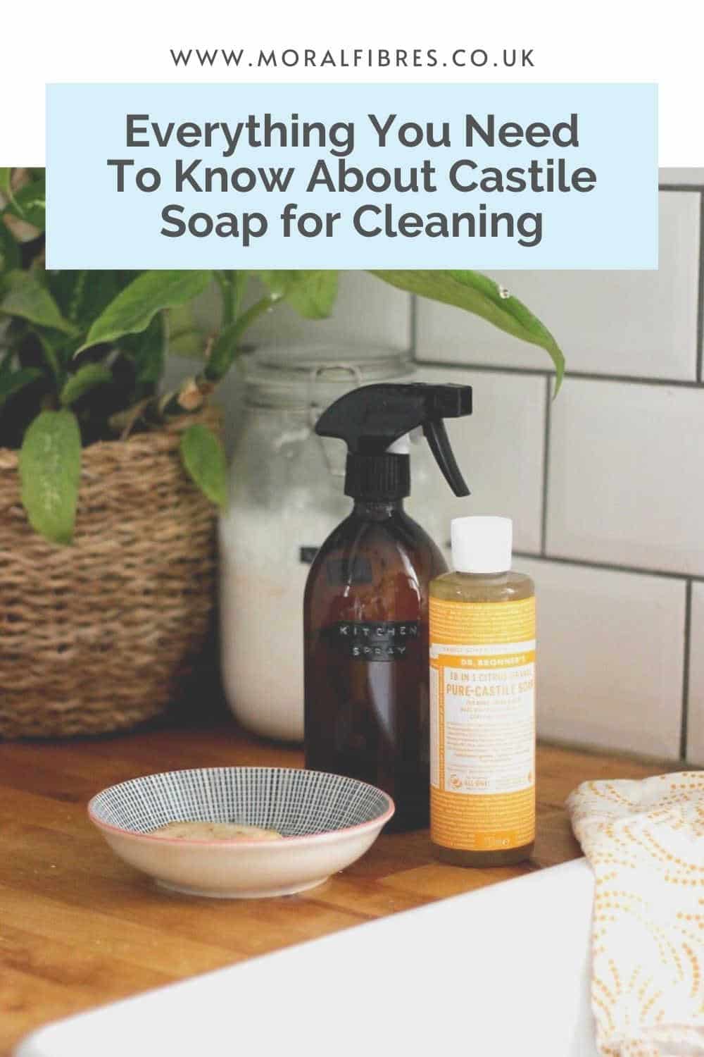
<svg viewBox="0 0 704 1057"><path fill-rule="evenodd" d="M704 573L704 389L568 378L552 405L548 554Z"/></svg>

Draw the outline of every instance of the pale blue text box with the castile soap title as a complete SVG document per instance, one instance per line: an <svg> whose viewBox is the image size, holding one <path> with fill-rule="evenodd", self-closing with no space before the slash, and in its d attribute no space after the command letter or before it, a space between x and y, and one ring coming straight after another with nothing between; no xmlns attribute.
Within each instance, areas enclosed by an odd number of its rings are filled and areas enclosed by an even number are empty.
<svg viewBox="0 0 704 1057"><path fill-rule="evenodd" d="M267 114L282 124L285 146L275 127L269 145L256 145ZM52 85L47 265L652 268L655 114L652 85ZM131 145L127 115L139 115ZM369 115L381 127L396 115L383 147ZM429 126L439 146L429 144ZM169 142L159 146L159 136ZM289 167L285 189L264 188L272 168L281 184ZM160 185L139 190L135 177L150 168ZM398 170L399 186L394 179L384 188L380 168L395 179ZM509 170L522 172L513 183L527 189L509 189ZM595 183L579 190L591 183L587 170ZM142 186L153 179L145 173ZM570 190L545 189L550 179ZM358 190L340 189L360 180Z"/></svg>

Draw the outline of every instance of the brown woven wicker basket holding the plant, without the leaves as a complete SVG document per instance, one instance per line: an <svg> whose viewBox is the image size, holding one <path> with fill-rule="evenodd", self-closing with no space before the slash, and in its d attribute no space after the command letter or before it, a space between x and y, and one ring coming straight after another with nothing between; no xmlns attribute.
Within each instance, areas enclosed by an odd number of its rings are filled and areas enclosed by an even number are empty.
<svg viewBox="0 0 704 1057"><path fill-rule="evenodd" d="M178 432L83 450L73 546L31 528L17 452L0 449L1 737L117 730L177 693L215 579L215 512L182 467Z"/></svg>

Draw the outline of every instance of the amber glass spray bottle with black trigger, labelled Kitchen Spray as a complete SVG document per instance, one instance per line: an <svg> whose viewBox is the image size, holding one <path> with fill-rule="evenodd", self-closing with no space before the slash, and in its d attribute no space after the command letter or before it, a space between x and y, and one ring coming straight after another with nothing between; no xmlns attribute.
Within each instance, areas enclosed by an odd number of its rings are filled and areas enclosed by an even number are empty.
<svg viewBox="0 0 704 1057"><path fill-rule="evenodd" d="M469 386L363 386L316 427L348 447L353 511L328 537L305 592L305 761L381 786L391 828L427 826L430 581L446 569L403 509L407 434L421 428L456 495L469 489L443 419L470 414Z"/></svg>

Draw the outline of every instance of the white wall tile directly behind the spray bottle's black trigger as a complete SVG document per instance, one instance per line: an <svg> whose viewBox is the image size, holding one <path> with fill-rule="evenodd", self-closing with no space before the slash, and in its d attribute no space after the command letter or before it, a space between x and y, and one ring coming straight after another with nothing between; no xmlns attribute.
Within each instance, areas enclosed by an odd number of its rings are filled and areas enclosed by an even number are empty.
<svg viewBox="0 0 704 1057"><path fill-rule="evenodd" d="M546 384L541 377L489 371L423 368L422 382L473 386L474 410L448 420L457 462L472 495L457 499L421 442L412 449L413 493L408 511L444 544L452 518L503 514L514 520L518 550L540 545ZM445 553L449 553L445 549Z"/></svg>

